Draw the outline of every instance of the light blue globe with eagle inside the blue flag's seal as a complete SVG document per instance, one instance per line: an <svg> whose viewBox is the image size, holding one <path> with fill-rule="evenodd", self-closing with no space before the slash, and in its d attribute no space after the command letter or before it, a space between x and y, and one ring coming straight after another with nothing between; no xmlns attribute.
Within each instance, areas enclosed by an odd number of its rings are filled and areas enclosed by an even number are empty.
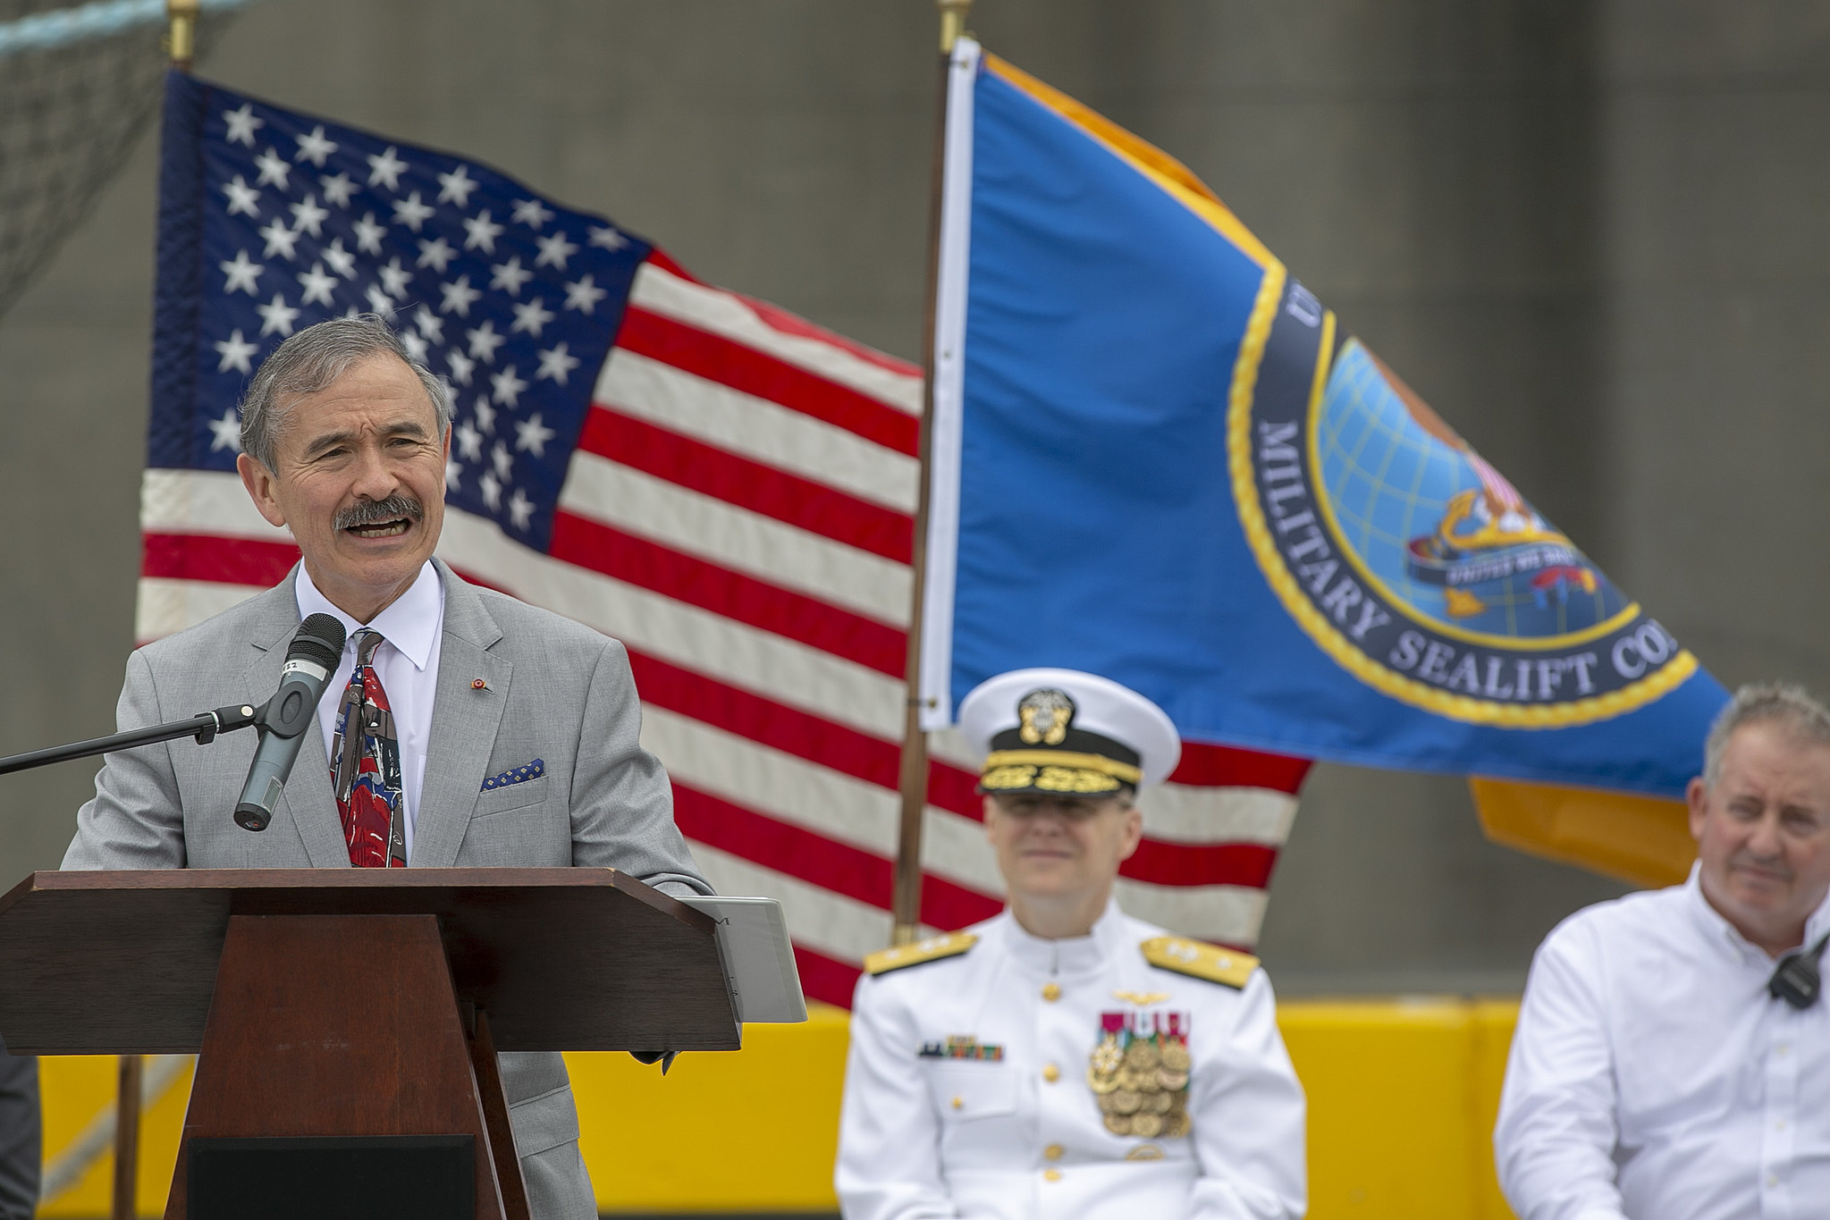
<svg viewBox="0 0 1830 1220"><path fill-rule="evenodd" d="M1632 605L1378 357L1349 340L1314 419L1336 541L1420 622L1473 642L1603 631Z"/></svg>

